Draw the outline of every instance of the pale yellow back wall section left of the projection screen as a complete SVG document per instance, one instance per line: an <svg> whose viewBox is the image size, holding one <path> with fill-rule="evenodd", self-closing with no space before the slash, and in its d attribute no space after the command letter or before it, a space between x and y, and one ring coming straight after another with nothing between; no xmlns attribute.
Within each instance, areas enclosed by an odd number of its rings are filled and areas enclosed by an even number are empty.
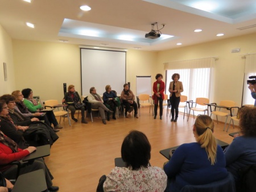
<svg viewBox="0 0 256 192"><path fill-rule="evenodd" d="M63 98L63 83L81 94L78 45L14 40L16 89L29 87L42 101ZM93 81L93 80L92 80Z"/></svg>

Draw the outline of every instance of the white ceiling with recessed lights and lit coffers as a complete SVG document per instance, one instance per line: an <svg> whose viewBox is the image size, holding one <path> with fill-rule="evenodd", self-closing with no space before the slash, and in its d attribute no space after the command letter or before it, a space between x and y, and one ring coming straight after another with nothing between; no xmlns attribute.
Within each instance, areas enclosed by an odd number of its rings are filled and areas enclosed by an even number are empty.
<svg viewBox="0 0 256 192"><path fill-rule="evenodd" d="M81 5L92 10L81 11ZM146 39L154 22L158 28L166 24L162 35ZM0 0L0 24L13 39L162 51L177 48L176 43L183 47L256 32L256 1ZM203 31L193 32L197 28Z"/></svg>

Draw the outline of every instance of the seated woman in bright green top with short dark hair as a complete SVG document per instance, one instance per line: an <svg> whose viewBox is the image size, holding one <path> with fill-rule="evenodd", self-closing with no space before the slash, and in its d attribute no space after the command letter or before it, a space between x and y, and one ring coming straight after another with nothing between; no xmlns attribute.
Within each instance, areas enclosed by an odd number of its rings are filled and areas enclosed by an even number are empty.
<svg viewBox="0 0 256 192"><path fill-rule="evenodd" d="M42 105L41 105L41 103L38 103L33 98L33 91L31 89L29 89L29 88L23 89L22 95L24 96L23 102L26 105L26 107L28 108L28 111L30 111L30 112L39 112L40 111L40 109L42 108ZM53 124L55 130L63 128L57 122L53 111L47 111L46 115L49 120L50 126L51 126L51 124Z"/></svg>

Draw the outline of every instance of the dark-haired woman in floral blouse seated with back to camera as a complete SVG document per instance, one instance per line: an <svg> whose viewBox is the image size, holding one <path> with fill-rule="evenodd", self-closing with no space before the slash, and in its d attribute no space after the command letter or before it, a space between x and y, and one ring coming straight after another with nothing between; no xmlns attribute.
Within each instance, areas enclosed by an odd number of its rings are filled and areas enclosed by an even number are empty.
<svg viewBox="0 0 256 192"><path fill-rule="evenodd" d="M106 176L104 191L164 191L167 176L163 169L149 166L151 145L140 131L125 137L121 155L126 167L115 167Z"/></svg>

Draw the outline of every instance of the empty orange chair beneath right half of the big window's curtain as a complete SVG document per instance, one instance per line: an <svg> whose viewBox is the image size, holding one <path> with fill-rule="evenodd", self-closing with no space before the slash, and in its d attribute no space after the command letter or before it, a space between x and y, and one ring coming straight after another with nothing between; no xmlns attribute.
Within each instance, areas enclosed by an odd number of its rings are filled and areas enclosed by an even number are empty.
<svg viewBox="0 0 256 192"><path fill-rule="evenodd" d="M190 103L192 105L191 106L189 105L188 119L189 119L189 115L190 115L191 110L193 111L193 118L194 119L195 119L194 111L204 112L204 114L207 111L207 115L209 115L208 106L205 104L205 103L209 103L208 98L198 97L198 98L196 98L196 102L190 102ZM193 104L195 104L195 107L193 106Z"/></svg>

